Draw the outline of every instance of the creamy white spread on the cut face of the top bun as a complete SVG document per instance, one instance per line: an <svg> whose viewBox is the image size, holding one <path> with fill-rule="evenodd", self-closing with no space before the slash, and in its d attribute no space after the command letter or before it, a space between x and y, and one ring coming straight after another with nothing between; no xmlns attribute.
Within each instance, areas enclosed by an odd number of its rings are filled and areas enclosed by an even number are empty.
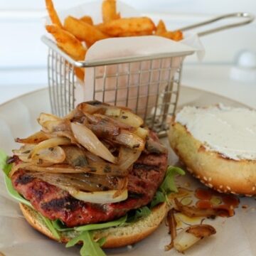
<svg viewBox="0 0 256 256"><path fill-rule="evenodd" d="M176 122L204 144L235 160L256 160L256 111L246 108L183 107Z"/></svg>

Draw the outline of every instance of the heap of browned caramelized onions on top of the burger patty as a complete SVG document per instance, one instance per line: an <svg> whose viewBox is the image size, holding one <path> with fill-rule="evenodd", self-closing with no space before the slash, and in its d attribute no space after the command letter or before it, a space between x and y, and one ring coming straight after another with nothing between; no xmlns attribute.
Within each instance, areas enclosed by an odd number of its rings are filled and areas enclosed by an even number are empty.
<svg viewBox="0 0 256 256"><path fill-rule="evenodd" d="M38 123L41 132L16 139L23 146L13 151L9 176L22 169L85 202L126 200L129 169L142 151L166 152L141 117L102 102L82 102L63 118L41 113Z"/></svg>

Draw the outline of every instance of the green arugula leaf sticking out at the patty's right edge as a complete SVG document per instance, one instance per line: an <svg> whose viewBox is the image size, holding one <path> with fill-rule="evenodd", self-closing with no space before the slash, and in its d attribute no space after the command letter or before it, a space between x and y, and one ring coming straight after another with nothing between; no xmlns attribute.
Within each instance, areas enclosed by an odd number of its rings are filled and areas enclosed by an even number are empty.
<svg viewBox="0 0 256 256"><path fill-rule="evenodd" d="M169 194L171 192L178 192L178 189L176 188L174 182L174 177L176 176L176 174L185 175L185 171L176 166L169 166L166 171L164 181L163 183L161 183L160 191L166 194Z"/></svg>

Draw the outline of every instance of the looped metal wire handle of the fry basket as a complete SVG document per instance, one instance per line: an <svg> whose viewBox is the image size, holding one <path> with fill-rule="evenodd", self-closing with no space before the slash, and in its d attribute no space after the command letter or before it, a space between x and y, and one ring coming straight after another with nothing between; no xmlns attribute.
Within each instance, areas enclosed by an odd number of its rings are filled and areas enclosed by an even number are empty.
<svg viewBox="0 0 256 256"><path fill-rule="evenodd" d="M196 23L196 24L193 24L193 25L190 25L190 26L185 26L183 28L179 28L178 30L188 31L188 30L191 30L193 28L198 28L198 27L201 27L201 26L206 26L206 25L208 25L210 23L214 23L215 21L220 21L220 20L223 20L223 19L226 19L226 18L245 18L245 20L244 21L235 22L235 23L230 23L230 24L224 25L224 26L219 26L217 28L210 28L210 29L208 29L206 31L199 32L198 36L206 36L206 35L208 35L210 33L215 33L215 32L218 32L218 31L223 31L223 30L228 29L228 28L235 28L235 27L238 27L238 26L243 26L245 24L251 23L255 19L255 16L252 15L252 14L249 14L249 13L245 13L245 12L238 12L238 13L234 13L234 14L224 14L224 15L221 15L221 16L217 16L215 18L211 18L208 21L203 21L203 22Z"/></svg>

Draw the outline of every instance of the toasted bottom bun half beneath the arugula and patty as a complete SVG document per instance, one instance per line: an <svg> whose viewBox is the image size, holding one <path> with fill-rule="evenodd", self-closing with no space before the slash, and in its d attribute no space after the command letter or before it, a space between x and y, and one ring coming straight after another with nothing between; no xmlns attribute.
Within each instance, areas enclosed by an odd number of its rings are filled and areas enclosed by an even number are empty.
<svg viewBox="0 0 256 256"><path fill-rule="evenodd" d="M79 233L77 231L60 232L60 240L57 240L53 233L50 232L46 224L44 223L41 214L33 208L19 203L21 211L28 221L28 223L48 238L56 240L58 242L68 242ZM95 239L106 238L103 248L122 247L126 245L132 245L140 240L143 240L147 236L159 227L164 220L168 207L166 203L160 203L151 210L151 214L145 218L137 220L135 223L129 223L117 228L105 228L102 230L94 230L93 237Z"/></svg>

